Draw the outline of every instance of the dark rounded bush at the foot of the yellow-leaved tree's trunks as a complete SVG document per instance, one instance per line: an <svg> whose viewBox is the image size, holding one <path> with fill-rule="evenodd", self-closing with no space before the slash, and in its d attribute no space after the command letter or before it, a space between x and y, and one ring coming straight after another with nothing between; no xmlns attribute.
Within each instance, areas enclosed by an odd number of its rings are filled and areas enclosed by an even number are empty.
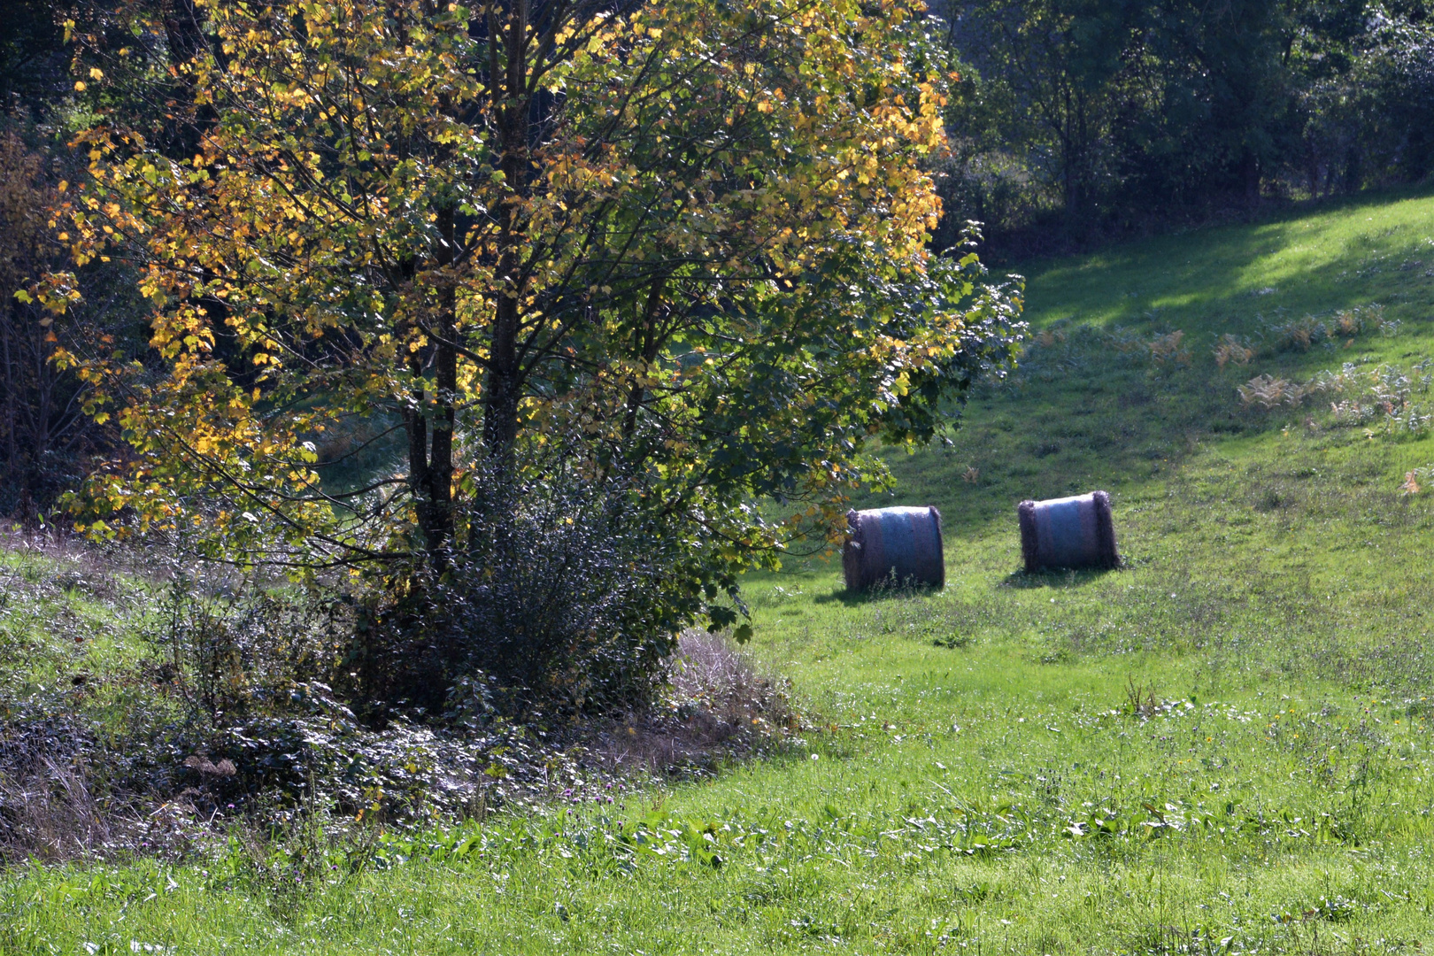
<svg viewBox="0 0 1434 956"><path fill-rule="evenodd" d="M452 565L384 582L347 671L370 717L630 707L661 684L675 635L716 596L698 583L703 529L641 482L565 457L475 476Z"/></svg>

